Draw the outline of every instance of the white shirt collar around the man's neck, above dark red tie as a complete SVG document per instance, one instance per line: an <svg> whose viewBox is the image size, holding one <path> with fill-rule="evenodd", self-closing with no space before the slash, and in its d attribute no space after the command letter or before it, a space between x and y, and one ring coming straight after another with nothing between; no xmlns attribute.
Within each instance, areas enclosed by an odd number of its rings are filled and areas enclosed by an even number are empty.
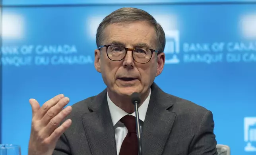
<svg viewBox="0 0 256 155"><path fill-rule="evenodd" d="M150 99L150 95L151 95L151 89L149 91L149 95L147 96L147 98L145 99L145 101L142 103L142 105L139 107L139 117L141 121L145 121L145 117L146 117L146 113L147 113L147 107L149 104L149 99ZM112 123L113 125L116 125L116 123L125 115L133 115L134 117L136 116L135 112L133 112L132 114L129 114L127 112L125 112L124 110L122 110L121 108L119 108L118 106L116 106L111 99L109 98L109 94L107 93L107 102L109 105L109 111L110 111L110 115L111 115L111 119L112 119ZM132 103L131 103L132 104Z"/></svg>

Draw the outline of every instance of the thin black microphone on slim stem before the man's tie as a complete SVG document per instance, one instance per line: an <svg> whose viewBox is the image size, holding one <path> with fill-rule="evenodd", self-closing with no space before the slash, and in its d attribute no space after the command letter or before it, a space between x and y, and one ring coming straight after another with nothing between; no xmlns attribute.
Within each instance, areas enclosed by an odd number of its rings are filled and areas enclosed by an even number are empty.
<svg viewBox="0 0 256 155"><path fill-rule="evenodd" d="M140 94L137 92L132 93L131 95L132 104L135 106L135 114L136 114L136 129L137 129L137 136L139 142L139 155L142 155L142 141L140 136L140 118L139 118L139 111L138 111L138 104L140 104Z"/></svg>

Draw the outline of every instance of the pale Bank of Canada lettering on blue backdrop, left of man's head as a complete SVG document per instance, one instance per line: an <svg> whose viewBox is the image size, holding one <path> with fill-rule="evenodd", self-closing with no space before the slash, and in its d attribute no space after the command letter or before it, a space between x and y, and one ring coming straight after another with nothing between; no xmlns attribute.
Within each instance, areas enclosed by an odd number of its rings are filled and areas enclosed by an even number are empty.
<svg viewBox="0 0 256 155"><path fill-rule="evenodd" d="M91 55L78 49L76 45L21 45L3 46L1 63L4 66L48 66L92 64Z"/></svg>

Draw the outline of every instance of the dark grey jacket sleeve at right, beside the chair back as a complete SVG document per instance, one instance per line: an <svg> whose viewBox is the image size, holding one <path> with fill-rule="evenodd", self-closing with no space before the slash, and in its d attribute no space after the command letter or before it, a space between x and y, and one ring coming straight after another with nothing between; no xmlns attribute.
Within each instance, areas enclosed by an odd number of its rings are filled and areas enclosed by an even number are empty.
<svg viewBox="0 0 256 155"><path fill-rule="evenodd" d="M207 111L192 140L189 155L217 155L217 141L213 132L214 121L211 111Z"/></svg>

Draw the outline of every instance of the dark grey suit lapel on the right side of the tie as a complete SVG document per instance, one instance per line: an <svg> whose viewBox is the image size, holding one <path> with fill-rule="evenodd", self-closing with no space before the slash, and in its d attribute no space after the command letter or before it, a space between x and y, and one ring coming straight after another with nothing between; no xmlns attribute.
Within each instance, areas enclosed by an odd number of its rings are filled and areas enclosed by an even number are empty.
<svg viewBox="0 0 256 155"><path fill-rule="evenodd" d="M161 155L171 132L176 113L169 111L173 105L170 98L155 83L142 130L144 155Z"/></svg>

